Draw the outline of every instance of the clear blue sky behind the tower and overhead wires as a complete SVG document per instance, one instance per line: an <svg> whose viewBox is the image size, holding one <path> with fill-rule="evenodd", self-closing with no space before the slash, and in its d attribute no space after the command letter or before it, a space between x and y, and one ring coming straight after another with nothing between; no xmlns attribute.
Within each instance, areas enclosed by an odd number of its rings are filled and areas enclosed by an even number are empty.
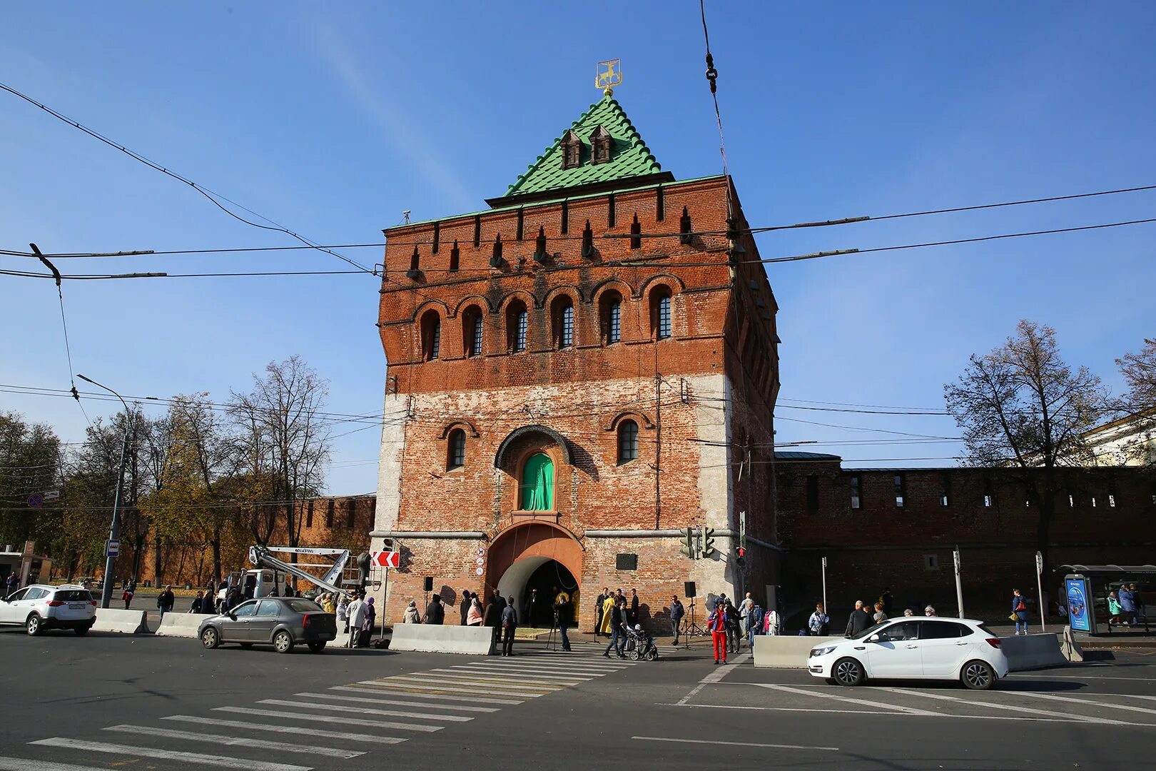
<svg viewBox="0 0 1156 771"><path fill-rule="evenodd" d="M366 243L484 207L598 98L616 95L677 178L720 170L697 3L36 3L6 9L0 81L321 243ZM784 224L1156 184L1149 2L707 2L727 157L748 220ZM0 247L289 245L187 186L0 94ZM1154 216L1156 192L759 237L764 258ZM941 408L942 385L1021 318L1119 390L1156 333L1156 224L769 266L781 400ZM347 250L362 262L380 250ZM2 268L36 268L0 257ZM61 260L65 272L341 269L317 252ZM68 387L55 289L0 276L0 383ZM66 282L74 368L126 394L223 401L299 354L329 409L380 409L364 275ZM67 399L0 406L82 437ZM822 406L822 405L812 405ZM114 412L88 402L88 414ZM949 418L778 410L779 439L956 436ZM787 420L792 418L792 420ZM341 433L362 424L335 427ZM376 485L378 430L334 443L328 489ZM838 445L844 458L954 444ZM939 465L947 460L880 460ZM868 465L851 464L851 465Z"/></svg>

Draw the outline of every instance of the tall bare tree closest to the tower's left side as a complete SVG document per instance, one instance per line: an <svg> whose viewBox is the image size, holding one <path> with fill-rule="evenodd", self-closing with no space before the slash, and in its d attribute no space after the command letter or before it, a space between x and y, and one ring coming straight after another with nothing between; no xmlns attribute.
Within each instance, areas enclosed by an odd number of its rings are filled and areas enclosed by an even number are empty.
<svg viewBox="0 0 1156 771"><path fill-rule="evenodd" d="M328 421L320 416L328 384L299 357L269 362L253 390L234 392L230 408L240 446L240 470L249 482L250 528L267 544L283 517L289 546L303 525L297 501L318 495L329 454Z"/></svg>

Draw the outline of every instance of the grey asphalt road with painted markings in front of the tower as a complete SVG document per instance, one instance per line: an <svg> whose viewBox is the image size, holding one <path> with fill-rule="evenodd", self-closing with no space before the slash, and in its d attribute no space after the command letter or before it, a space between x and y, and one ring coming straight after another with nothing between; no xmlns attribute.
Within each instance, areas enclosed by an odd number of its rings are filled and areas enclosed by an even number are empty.
<svg viewBox="0 0 1156 771"><path fill-rule="evenodd" d="M527 643L512 659L282 655L3 630L0 659L0 771L1098 770L1156 757L1156 657L1016 674L984 694L839 689L749 661L716 667L705 646L632 663L592 644L566 655Z"/></svg>

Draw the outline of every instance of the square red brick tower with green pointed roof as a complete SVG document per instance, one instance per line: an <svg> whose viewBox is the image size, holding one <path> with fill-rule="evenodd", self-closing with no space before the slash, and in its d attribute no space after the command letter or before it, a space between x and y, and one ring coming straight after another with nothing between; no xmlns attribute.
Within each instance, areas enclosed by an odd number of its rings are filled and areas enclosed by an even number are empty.
<svg viewBox="0 0 1156 771"><path fill-rule="evenodd" d="M607 94L487 202L385 231L386 620L424 577L520 609L538 588L546 625L565 588L584 630L603 586L637 588L643 623L688 580L764 601L777 306L731 180L675 181ZM712 556L680 551L688 526Z"/></svg>

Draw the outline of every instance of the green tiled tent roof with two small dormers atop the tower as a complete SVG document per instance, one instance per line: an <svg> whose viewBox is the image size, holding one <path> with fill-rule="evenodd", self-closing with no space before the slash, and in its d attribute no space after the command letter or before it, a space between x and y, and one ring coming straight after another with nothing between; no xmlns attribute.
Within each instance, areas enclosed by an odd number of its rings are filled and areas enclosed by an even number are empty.
<svg viewBox="0 0 1156 771"><path fill-rule="evenodd" d="M595 165L590 162L590 136L599 126L610 133L613 147L610 161ZM599 102L590 105L590 109L570 126L570 131L575 132L583 142L580 165L573 169L562 168L562 139L566 133L563 132L542 155L538 156L526 173L510 185L503 197L491 199L488 202L494 206L509 205L516 202L519 197L538 199L542 197L542 193L556 193L566 188L590 185L608 185L620 179L630 180L631 184L637 183L638 178L654 178L657 176L669 180L674 179L669 172L664 175L661 164L654 160L650 148L643 142L643 138L638 135L633 124L622 110L622 105L610 95L606 95Z"/></svg>

